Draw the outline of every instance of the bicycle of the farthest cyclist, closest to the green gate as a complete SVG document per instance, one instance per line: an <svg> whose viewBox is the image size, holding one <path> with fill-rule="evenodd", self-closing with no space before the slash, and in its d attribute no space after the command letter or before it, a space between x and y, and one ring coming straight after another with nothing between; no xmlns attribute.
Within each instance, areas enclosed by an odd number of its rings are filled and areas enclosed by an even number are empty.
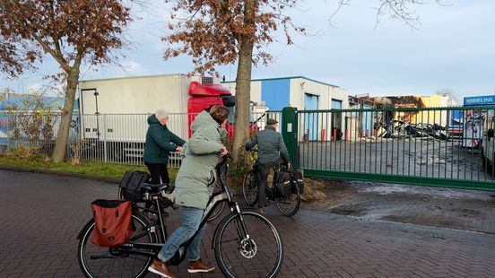
<svg viewBox="0 0 495 278"><path fill-rule="evenodd" d="M282 196L276 190L276 177L280 172L280 166L274 167L274 180L272 187L266 187L266 197L268 200L273 200L278 210L286 216L295 215L300 208L300 188L297 185L291 184L291 195ZM258 200L258 185L259 177L259 161L256 160L253 168L244 177L242 183L242 195L247 205L254 206Z"/></svg>

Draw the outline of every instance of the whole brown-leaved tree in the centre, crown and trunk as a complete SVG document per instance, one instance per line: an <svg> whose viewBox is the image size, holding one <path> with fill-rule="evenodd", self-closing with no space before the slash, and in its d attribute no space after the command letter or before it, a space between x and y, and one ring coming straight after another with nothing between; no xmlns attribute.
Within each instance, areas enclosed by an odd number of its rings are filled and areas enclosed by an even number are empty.
<svg viewBox="0 0 495 278"><path fill-rule="evenodd" d="M252 66L273 61L265 47L274 41L275 30L283 30L289 45L289 30L305 32L283 14L295 5L296 0L178 0L172 6L172 34L163 39L170 43L164 53L166 59L187 54L193 57L194 73L217 76L216 65L238 63L234 163L239 162L249 131Z"/></svg>

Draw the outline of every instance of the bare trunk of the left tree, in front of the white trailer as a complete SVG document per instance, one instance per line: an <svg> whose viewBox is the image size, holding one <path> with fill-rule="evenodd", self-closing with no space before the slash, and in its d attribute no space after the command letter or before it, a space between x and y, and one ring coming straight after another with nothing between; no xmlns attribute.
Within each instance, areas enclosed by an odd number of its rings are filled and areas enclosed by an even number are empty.
<svg viewBox="0 0 495 278"><path fill-rule="evenodd" d="M65 101L64 109L62 109L62 116L60 119L60 125L58 126L58 132L56 134L55 149L53 150L52 160L55 163L64 162L65 149L69 139L69 128L72 121L74 112L74 100L75 90L79 83L79 68L73 68L67 74L67 84L65 86Z"/></svg>

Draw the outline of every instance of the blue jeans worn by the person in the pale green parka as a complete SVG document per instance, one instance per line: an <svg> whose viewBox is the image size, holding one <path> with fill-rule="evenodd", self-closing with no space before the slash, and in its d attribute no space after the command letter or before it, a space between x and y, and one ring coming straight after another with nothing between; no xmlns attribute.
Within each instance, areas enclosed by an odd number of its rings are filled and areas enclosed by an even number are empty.
<svg viewBox="0 0 495 278"><path fill-rule="evenodd" d="M180 245L190 239L195 231L199 228L201 223L201 217L203 217L204 210L195 207L183 206L182 207L182 224L177 230L174 230L169 237L169 240L165 242L158 254L158 258L162 262L169 261L172 256L175 255ZM199 259L199 253L201 251L201 238L204 234L204 226L197 233L195 239L189 244L187 248L187 260L195 261Z"/></svg>

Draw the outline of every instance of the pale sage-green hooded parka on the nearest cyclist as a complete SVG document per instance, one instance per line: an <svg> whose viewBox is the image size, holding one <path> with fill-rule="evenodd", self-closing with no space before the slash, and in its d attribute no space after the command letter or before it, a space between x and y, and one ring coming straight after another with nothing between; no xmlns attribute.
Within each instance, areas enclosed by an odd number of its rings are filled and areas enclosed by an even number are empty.
<svg viewBox="0 0 495 278"><path fill-rule="evenodd" d="M185 145L175 181L176 204L204 209L213 194L225 131L206 111L195 117L191 130L193 136Z"/></svg>

